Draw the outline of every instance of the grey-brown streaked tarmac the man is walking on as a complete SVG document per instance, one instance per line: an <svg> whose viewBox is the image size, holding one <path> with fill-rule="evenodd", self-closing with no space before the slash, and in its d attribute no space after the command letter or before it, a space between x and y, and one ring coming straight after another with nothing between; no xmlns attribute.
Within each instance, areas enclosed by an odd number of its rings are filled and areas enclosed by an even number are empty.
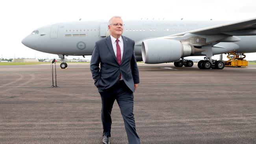
<svg viewBox="0 0 256 144"><path fill-rule="evenodd" d="M138 63L142 144L255 144L256 65L223 70ZM88 63L0 66L0 144L102 144L101 99ZM55 76L54 76L55 85ZM127 144L117 103L111 144Z"/></svg>

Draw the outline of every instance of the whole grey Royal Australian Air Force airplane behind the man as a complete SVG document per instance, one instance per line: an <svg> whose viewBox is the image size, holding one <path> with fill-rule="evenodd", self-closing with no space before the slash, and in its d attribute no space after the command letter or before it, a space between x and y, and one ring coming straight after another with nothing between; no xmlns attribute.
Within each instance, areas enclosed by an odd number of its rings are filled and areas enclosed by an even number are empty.
<svg viewBox="0 0 256 144"><path fill-rule="evenodd" d="M223 69L217 54L244 55L256 52L256 18L237 22L217 21L124 21L123 34L135 41L137 61L147 64L174 62L174 66L193 66L187 56L205 56L200 69ZM65 55L91 55L95 42L109 36L107 21L77 21L37 28L22 44L40 52L57 54L61 68ZM245 55L244 55L245 56Z"/></svg>

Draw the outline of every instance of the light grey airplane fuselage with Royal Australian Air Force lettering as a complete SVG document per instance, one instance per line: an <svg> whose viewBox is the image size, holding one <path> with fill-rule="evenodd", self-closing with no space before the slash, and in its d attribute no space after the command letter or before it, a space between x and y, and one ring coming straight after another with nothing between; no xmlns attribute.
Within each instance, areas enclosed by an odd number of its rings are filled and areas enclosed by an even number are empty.
<svg viewBox="0 0 256 144"><path fill-rule="evenodd" d="M173 35L223 23L226 22L193 22L182 20L125 21L123 35L135 41L135 55L140 60L141 42L144 39ZM22 43L34 50L50 54L91 55L95 42L106 36L108 36L108 23L106 21L78 21L38 28L32 34L25 37ZM256 36L237 37L241 39L241 41L234 42L239 45L239 49L236 50L237 53L256 52ZM213 52L213 54L221 53L223 51Z"/></svg>

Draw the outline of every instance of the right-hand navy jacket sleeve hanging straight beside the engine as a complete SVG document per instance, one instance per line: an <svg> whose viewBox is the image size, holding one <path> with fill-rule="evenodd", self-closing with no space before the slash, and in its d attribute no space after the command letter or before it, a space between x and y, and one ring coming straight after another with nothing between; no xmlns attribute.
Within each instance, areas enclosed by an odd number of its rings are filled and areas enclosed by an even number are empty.
<svg viewBox="0 0 256 144"><path fill-rule="evenodd" d="M135 42L133 41L133 55L131 59L131 69L132 69L132 78L134 79L134 83L139 83L139 69L137 66L137 61L135 57L135 48L134 48Z"/></svg>

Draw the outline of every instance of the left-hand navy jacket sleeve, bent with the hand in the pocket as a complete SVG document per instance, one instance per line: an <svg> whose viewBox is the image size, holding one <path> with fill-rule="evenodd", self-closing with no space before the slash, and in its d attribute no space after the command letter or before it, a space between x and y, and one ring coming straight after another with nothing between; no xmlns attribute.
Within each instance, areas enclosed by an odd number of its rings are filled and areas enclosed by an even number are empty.
<svg viewBox="0 0 256 144"><path fill-rule="evenodd" d="M98 82L100 80L100 53L99 53L99 48L97 45L97 42L95 43L95 47L93 50L93 54L91 56L91 63L90 63L90 70L93 75L94 79L94 85L98 87Z"/></svg>

